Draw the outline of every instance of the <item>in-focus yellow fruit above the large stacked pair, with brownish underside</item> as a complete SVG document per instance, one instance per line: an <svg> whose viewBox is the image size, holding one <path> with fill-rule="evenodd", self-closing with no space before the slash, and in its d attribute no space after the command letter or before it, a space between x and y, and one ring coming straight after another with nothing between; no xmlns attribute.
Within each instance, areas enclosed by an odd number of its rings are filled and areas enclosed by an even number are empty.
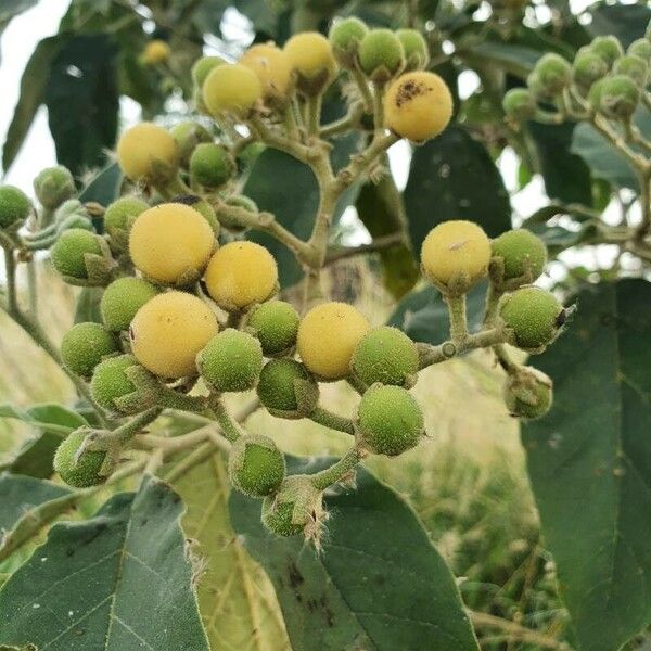
<svg viewBox="0 0 651 651"><path fill-rule="evenodd" d="M170 176L178 165L176 140L163 127L140 123L122 135L117 143L117 162L133 180Z"/></svg>

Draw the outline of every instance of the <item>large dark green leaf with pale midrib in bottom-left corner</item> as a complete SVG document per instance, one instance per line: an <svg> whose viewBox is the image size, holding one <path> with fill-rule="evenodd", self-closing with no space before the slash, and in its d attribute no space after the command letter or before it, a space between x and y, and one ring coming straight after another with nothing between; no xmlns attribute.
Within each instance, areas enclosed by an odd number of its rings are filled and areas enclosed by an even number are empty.
<svg viewBox="0 0 651 651"><path fill-rule="evenodd" d="M85 522L60 523L0 589L0 643L49 651L208 651L182 503L144 480Z"/></svg>

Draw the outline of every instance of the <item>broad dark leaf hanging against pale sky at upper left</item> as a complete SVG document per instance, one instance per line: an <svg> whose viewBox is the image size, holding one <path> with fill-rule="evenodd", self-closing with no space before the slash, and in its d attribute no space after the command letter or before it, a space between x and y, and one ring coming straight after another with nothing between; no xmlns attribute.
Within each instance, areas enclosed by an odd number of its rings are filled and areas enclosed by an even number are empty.
<svg viewBox="0 0 651 651"><path fill-rule="evenodd" d="M74 175L103 164L117 132L117 48L106 35L75 36L51 65L46 89L56 157Z"/></svg>

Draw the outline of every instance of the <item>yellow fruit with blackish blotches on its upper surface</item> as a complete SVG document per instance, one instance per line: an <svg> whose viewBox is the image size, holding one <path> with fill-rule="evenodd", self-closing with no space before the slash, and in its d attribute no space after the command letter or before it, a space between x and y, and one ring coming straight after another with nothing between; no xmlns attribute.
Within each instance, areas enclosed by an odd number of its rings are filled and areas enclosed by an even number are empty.
<svg viewBox="0 0 651 651"><path fill-rule="evenodd" d="M452 95L434 73L406 73L388 87L384 115L392 131L413 142L424 142L447 127L452 116Z"/></svg>

